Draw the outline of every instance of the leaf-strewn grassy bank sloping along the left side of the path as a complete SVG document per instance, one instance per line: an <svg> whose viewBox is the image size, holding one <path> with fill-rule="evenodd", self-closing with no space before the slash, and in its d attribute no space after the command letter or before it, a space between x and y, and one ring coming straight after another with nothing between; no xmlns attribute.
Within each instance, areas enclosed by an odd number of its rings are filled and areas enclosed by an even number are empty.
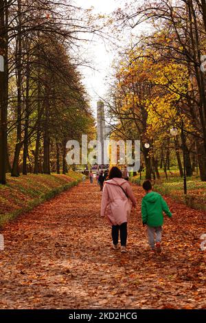
<svg viewBox="0 0 206 323"><path fill-rule="evenodd" d="M72 170L67 175L30 174L17 178L8 175L7 184L0 185L0 227L80 181L82 175Z"/></svg>

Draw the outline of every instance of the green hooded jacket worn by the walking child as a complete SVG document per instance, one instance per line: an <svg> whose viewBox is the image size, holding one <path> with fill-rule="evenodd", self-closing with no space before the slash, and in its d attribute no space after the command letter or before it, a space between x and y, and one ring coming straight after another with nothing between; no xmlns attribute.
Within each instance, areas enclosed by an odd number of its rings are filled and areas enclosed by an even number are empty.
<svg viewBox="0 0 206 323"><path fill-rule="evenodd" d="M163 212L171 218L172 213L163 197L157 192L150 192L141 201L142 222L150 227L163 225Z"/></svg>

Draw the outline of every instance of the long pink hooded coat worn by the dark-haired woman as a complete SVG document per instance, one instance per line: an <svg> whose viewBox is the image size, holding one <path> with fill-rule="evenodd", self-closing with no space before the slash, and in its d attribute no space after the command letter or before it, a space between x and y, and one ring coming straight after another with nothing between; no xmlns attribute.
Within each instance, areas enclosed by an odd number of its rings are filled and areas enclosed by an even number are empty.
<svg viewBox="0 0 206 323"><path fill-rule="evenodd" d="M119 186L124 188L129 199ZM105 181L102 193L101 216L106 215L111 225L121 225L127 222L131 210L130 201L136 206L137 201L128 181L122 178Z"/></svg>

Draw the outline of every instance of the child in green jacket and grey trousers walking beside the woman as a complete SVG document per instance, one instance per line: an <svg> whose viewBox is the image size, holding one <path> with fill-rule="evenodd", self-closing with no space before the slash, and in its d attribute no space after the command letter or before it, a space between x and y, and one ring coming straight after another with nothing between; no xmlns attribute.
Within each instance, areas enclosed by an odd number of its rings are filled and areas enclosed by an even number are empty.
<svg viewBox="0 0 206 323"><path fill-rule="evenodd" d="M168 204L163 197L157 192L152 191L150 181L144 181L143 188L146 191L145 197L141 201L141 218L143 225L148 226L148 241L151 251L155 253L155 233L156 233L156 249L161 252L161 232L163 225L163 212L171 218L172 213L168 208Z"/></svg>

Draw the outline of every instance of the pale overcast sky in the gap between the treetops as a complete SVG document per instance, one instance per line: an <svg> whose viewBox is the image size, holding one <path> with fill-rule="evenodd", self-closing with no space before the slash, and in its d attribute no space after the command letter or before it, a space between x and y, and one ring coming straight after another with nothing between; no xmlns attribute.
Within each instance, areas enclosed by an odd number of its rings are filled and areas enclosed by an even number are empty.
<svg viewBox="0 0 206 323"><path fill-rule="evenodd" d="M108 17L112 17L112 13L117 10L117 8L124 9L126 3L134 3L133 0L73 0L76 5L80 8L89 9L93 7L92 13L95 14L105 14ZM136 0L136 3L140 5L144 0ZM101 23L101 21L100 21ZM82 57L89 60L89 67L81 67L80 71L84 77L84 85L87 88L89 96L91 97L91 107L96 115L96 104L100 98L106 98L106 93L108 93L109 82L111 81L111 75L113 69L111 65L113 60L118 61L119 55L118 50L124 52L126 45L131 45L135 41L134 36L140 35L142 32L147 32L148 25L141 24L135 28L135 30L122 30L119 32L120 40L115 41L118 44L119 49L114 47L111 41L102 39L102 37L93 36L93 41L87 41L81 43L83 47L80 53ZM108 30L104 29L104 33L108 34L109 37L115 36L112 33L111 27ZM88 36L89 37L89 36ZM116 37L116 36L115 36ZM115 38L116 39L116 38ZM133 39L133 41L131 41Z"/></svg>

